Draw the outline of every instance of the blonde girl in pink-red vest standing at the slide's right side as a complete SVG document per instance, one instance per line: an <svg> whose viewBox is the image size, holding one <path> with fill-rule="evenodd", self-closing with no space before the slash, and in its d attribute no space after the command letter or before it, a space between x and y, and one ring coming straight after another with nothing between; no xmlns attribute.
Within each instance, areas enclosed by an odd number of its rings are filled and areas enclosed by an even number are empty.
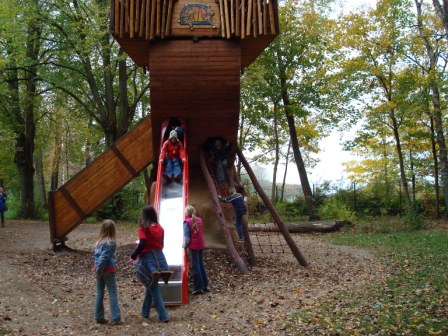
<svg viewBox="0 0 448 336"><path fill-rule="evenodd" d="M191 268L193 269L193 295L208 292L208 278L204 267L205 248L202 231L202 219L196 216L196 210L188 205L185 208L183 248L190 249Z"/></svg>

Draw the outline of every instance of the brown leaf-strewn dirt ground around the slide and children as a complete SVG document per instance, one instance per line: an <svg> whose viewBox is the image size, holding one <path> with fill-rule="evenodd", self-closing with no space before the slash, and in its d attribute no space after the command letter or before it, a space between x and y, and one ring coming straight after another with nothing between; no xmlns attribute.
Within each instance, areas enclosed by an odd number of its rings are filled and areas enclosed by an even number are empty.
<svg viewBox="0 0 448 336"><path fill-rule="evenodd" d="M67 242L76 251L59 253L51 251L46 223L10 221L0 229L0 335L289 335L288 319L303 305L388 274L367 252L312 236L294 235L310 262L306 269L266 255L241 275L226 251L206 250L213 290L169 308L164 324L154 311L149 320L139 316L143 287L125 262L136 230L119 227L117 283L125 324L96 325L91 249L98 228L81 225Z"/></svg>

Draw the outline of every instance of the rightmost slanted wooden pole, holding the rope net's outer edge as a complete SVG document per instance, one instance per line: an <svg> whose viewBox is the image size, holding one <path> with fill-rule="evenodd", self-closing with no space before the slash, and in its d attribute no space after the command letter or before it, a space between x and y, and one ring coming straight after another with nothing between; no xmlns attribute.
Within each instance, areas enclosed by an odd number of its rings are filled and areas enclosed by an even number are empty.
<svg viewBox="0 0 448 336"><path fill-rule="evenodd" d="M277 223L277 226L280 230L280 232L283 234L283 237L285 238L286 243L289 245L289 248L291 249L291 252L293 253L294 257L296 257L297 261L300 265L306 267L308 266L308 262L306 261L305 257L300 252L299 248L297 247L296 243L291 237L291 234L289 233L285 223L280 218L280 215L278 214L277 210L275 209L274 205L272 204L269 197L266 195L266 193L261 188L260 184L257 181L257 178L255 177L254 172L252 171L252 168L249 166L249 163L247 162L246 158L243 155L243 152L241 152L241 149L239 147L236 148L236 154L238 155L238 158L240 159L241 163L243 164L244 169L246 169L247 174L249 175L255 190L257 191L258 195L263 200L264 204L269 209L269 212L271 213L272 218L274 218L275 222Z"/></svg>

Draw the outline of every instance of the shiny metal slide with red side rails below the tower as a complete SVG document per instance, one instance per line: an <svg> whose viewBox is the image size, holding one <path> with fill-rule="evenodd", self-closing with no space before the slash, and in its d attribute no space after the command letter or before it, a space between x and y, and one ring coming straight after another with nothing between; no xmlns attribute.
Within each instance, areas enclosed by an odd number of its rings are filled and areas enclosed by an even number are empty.
<svg viewBox="0 0 448 336"><path fill-rule="evenodd" d="M182 126L185 129L185 125ZM165 121L162 125L161 145L167 127L168 121ZM183 145L186 153L185 133ZM188 203L188 155L185 155L181 181L167 183L162 177L163 163L159 162L157 169L154 207L159 215L160 225L165 231L163 253L170 270L174 272L168 285L159 282L166 305L188 303L188 259L186 251L182 248L184 210Z"/></svg>

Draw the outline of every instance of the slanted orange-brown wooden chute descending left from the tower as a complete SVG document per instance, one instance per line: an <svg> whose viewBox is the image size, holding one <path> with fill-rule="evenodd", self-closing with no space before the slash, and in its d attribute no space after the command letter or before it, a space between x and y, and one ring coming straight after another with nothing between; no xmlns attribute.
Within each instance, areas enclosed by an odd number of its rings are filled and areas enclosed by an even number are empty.
<svg viewBox="0 0 448 336"><path fill-rule="evenodd" d="M50 192L50 235L53 248L93 211L135 178L153 159L150 116L71 180Z"/></svg>

